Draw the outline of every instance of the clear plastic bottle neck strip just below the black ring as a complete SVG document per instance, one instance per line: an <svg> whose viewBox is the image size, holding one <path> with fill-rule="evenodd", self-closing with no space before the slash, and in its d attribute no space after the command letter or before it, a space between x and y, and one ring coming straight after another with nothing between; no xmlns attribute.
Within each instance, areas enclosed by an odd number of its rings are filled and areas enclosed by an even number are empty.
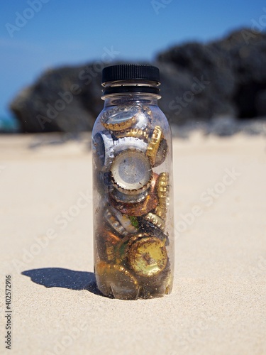
<svg viewBox="0 0 266 355"><path fill-rule="evenodd" d="M109 94L101 97L104 100L104 107L125 105L125 104L140 104L140 105L154 105L157 106L160 95L147 93L121 93Z"/></svg>

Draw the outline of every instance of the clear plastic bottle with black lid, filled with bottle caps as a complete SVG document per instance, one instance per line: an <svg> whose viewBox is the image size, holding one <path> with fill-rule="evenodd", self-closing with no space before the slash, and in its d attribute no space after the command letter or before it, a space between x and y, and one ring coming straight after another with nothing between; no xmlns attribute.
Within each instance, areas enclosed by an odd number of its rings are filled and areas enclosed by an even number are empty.
<svg viewBox="0 0 266 355"><path fill-rule="evenodd" d="M104 109L92 131L94 271L106 296L162 297L172 290L172 136L157 106L150 65L103 70Z"/></svg>

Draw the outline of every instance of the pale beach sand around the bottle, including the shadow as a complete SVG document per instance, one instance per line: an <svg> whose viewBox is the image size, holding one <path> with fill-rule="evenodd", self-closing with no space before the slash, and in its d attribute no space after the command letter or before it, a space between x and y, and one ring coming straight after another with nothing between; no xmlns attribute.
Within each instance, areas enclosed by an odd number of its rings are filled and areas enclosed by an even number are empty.
<svg viewBox="0 0 266 355"><path fill-rule="evenodd" d="M90 137L60 139L0 136L0 353L11 275L11 354L266 354L265 138L174 139L174 289L137 301L94 287Z"/></svg>

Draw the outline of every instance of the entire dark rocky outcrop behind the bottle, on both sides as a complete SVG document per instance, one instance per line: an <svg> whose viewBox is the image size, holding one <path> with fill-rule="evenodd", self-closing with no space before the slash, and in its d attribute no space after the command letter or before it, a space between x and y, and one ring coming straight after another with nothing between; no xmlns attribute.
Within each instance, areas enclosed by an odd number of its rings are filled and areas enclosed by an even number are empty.
<svg viewBox="0 0 266 355"><path fill-rule="evenodd" d="M211 43L187 43L157 55L160 107L172 124L266 116L266 34L243 29ZM112 63L117 64L117 63ZM104 65L102 65L104 66ZM11 102L23 132L87 131L103 107L101 67L45 72Z"/></svg>

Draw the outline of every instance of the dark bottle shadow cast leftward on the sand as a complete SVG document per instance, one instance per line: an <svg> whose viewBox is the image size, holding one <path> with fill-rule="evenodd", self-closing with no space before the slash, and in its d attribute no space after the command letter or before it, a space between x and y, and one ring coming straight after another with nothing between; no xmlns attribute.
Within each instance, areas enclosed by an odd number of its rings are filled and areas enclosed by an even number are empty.
<svg viewBox="0 0 266 355"><path fill-rule="evenodd" d="M69 290L88 290L101 295L96 286L94 273L74 271L67 268L36 268L21 273L31 278L33 283L46 288L68 288Z"/></svg>

